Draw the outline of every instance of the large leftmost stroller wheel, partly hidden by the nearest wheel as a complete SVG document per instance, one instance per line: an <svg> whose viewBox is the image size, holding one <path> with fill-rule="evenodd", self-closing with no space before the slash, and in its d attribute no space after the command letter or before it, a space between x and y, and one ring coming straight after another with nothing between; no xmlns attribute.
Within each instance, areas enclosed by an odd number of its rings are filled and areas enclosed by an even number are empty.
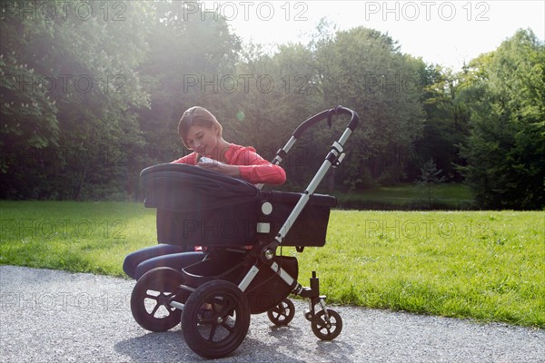
<svg viewBox="0 0 545 363"><path fill-rule="evenodd" d="M160 267L147 271L136 282L131 295L134 320L150 331L173 329L180 322L182 311L168 303L182 283L183 274L178 270Z"/></svg>

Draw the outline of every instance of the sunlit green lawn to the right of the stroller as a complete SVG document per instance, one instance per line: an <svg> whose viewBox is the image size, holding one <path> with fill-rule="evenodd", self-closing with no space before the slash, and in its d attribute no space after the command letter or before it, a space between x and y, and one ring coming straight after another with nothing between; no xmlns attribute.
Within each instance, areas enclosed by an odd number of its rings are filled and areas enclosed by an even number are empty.
<svg viewBox="0 0 545 363"><path fill-rule="evenodd" d="M540 211L334 211L301 276L340 303L543 328L544 229Z"/></svg>

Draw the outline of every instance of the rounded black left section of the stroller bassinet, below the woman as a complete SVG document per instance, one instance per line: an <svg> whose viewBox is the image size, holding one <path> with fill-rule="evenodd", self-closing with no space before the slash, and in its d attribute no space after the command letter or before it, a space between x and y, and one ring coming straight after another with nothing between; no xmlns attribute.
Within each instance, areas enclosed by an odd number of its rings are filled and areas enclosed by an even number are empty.
<svg viewBox="0 0 545 363"><path fill-rule="evenodd" d="M157 241L182 246L255 242L259 190L251 183L193 165L159 164L140 181L146 207L157 209Z"/></svg>

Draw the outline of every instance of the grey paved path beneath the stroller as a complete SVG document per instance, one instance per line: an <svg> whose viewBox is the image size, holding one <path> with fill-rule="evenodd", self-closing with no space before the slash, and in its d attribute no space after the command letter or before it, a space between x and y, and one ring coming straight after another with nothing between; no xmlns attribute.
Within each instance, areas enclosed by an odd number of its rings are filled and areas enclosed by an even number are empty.
<svg viewBox="0 0 545 363"><path fill-rule="evenodd" d="M134 281L0 266L0 362L198 362L179 326L140 328ZM296 302L288 327L254 315L248 336L218 362L545 362L545 330L337 307L344 327L331 342L312 334Z"/></svg>

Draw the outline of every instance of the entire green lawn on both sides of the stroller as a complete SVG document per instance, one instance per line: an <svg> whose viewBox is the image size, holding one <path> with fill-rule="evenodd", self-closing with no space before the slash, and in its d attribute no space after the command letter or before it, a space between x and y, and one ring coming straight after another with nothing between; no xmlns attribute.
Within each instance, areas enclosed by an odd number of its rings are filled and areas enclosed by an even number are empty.
<svg viewBox="0 0 545 363"><path fill-rule="evenodd" d="M140 203L0 201L0 264L124 276L155 243ZM330 302L545 328L543 211L332 211L296 255Z"/></svg>

